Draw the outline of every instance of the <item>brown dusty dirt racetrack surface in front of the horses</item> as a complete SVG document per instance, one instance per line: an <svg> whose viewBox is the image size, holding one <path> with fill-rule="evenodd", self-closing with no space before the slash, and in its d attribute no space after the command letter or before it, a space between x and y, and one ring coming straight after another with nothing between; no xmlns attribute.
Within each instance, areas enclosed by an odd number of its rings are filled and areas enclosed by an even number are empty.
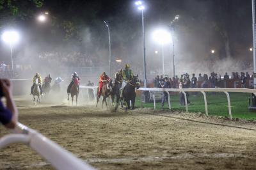
<svg viewBox="0 0 256 170"><path fill-rule="evenodd" d="M256 169L254 123L16 100L21 123L99 169ZM1 127L0 136L6 133ZM0 169L52 167L27 146L13 144L0 151Z"/></svg>

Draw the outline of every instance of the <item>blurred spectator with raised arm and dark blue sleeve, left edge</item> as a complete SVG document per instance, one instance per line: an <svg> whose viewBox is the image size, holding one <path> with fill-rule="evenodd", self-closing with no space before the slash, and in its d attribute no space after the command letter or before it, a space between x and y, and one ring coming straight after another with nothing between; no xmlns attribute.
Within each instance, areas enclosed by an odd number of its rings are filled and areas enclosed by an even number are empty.
<svg viewBox="0 0 256 170"><path fill-rule="evenodd" d="M0 122L7 128L15 128L18 110L12 98L12 84L8 79L0 79L0 97L6 98L6 107L0 100Z"/></svg>

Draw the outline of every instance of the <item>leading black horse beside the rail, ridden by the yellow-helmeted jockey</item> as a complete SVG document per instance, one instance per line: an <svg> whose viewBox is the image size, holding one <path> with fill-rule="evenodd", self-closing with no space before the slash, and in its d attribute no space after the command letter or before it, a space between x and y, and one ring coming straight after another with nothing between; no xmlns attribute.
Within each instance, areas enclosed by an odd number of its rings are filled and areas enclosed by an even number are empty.
<svg viewBox="0 0 256 170"><path fill-rule="evenodd" d="M123 90L124 102L127 104L127 109L130 109L130 100L132 102L132 109L134 109L136 97L135 88L140 88L138 75L134 76L131 81L127 82Z"/></svg>

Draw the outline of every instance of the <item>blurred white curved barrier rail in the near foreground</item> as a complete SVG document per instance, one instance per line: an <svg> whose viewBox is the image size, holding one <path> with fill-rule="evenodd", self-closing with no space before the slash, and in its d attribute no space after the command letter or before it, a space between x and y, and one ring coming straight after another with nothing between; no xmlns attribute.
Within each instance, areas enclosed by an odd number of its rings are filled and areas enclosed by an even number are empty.
<svg viewBox="0 0 256 170"><path fill-rule="evenodd" d="M56 169L94 169L44 135L21 123L17 123L17 127L13 130L13 133L0 138L0 149L12 143L28 144L30 148L38 152Z"/></svg>

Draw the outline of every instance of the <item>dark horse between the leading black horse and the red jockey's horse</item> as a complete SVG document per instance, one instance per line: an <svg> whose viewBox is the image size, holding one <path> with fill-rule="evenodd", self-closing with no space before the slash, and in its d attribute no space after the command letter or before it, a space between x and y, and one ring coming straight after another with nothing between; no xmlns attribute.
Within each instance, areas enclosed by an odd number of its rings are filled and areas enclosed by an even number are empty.
<svg viewBox="0 0 256 170"><path fill-rule="evenodd" d="M111 91L110 95L111 95L112 104L115 106L115 111L117 110L117 107L120 102L121 86L122 86L122 82L118 82L116 80L113 83L111 83L112 91ZM115 97L116 97L116 104L115 104ZM120 102L120 103L121 103L121 106L123 107L123 103L122 102Z"/></svg>

